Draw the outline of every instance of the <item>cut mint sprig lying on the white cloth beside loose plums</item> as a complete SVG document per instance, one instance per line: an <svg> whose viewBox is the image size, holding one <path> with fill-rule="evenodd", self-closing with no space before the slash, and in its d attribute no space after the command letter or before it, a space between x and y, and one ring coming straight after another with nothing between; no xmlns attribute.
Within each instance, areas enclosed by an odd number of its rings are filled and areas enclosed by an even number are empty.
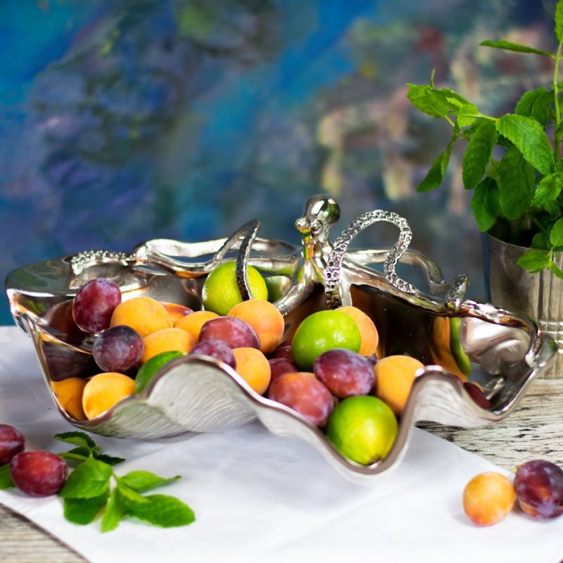
<svg viewBox="0 0 563 563"><path fill-rule="evenodd" d="M103 513L102 532L114 530L125 517L163 527L185 526L195 520L191 508L175 497L143 495L154 488L174 483L180 479L179 475L167 478L148 471L133 471L118 476L112 464L125 460L102 454L99 445L87 434L67 432L57 434L56 438L77 445L70 452L59 454L68 462L77 464L58 493L63 499L67 520L75 524L90 524Z"/></svg>

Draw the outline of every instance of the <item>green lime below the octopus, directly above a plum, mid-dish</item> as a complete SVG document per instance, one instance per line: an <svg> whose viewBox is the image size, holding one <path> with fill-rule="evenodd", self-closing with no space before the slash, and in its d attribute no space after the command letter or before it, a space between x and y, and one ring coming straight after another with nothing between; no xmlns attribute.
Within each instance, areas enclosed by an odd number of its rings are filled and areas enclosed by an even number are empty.
<svg viewBox="0 0 563 563"><path fill-rule="evenodd" d="M312 372L317 356L334 348L360 350L362 337L358 324L341 311L318 311L309 315L293 335L291 353L300 369Z"/></svg>

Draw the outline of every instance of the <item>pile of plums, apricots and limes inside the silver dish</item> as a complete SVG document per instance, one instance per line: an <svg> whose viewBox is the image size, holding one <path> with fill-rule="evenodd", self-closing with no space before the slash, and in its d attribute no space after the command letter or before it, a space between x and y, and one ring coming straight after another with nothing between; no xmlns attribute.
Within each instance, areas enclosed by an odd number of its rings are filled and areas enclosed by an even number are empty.
<svg viewBox="0 0 563 563"><path fill-rule="evenodd" d="M377 328L353 306L314 312L283 341L284 318L267 301L265 279L249 267L248 282L255 298L243 301L235 262L215 268L203 284L200 311L148 297L122 301L113 281L87 282L72 302L72 317L96 334L93 356L101 373L53 381L59 403L75 419L93 419L143 391L170 360L207 355L326 431L349 460L372 464L386 457L422 362L407 355L378 359ZM464 384L484 399L479 388Z"/></svg>

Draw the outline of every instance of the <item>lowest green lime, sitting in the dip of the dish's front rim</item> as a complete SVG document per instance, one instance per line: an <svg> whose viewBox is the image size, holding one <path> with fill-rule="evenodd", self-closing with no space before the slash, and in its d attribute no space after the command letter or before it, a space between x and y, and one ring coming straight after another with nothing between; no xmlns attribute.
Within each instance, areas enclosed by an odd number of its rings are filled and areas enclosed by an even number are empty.
<svg viewBox="0 0 563 563"><path fill-rule="evenodd" d="M342 455L369 465L382 460L397 437L391 407L371 395L348 397L332 411L327 437Z"/></svg>

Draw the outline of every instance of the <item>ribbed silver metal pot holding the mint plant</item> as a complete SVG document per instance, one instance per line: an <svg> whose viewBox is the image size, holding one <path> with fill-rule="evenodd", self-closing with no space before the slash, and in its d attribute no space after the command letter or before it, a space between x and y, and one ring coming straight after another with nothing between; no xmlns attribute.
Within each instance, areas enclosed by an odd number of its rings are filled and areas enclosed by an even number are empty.
<svg viewBox="0 0 563 563"><path fill-rule="evenodd" d="M519 267L518 258L528 250L524 246L488 233L481 236L481 243L487 300L538 321L557 343L555 362L543 377L563 378L563 279L549 270L531 274ZM558 255L557 265L563 268L563 253Z"/></svg>

